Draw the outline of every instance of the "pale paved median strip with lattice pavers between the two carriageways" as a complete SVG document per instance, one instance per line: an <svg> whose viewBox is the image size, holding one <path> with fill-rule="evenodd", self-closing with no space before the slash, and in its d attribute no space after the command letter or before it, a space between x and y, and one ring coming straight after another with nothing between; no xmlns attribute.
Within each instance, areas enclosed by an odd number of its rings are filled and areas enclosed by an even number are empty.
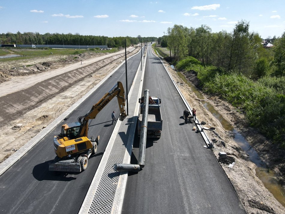
<svg viewBox="0 0 285 214"><path fill-rule="evenodd" d="M139 66L128 93L128 116L124 121L116 123L79 214L120 214L122 212L128 172L115 171L113 166L116 163L129 164L131 161L139 106L137 100L143 87L146 60L143 59L142 62L143 71L140 71Z"/></svg>

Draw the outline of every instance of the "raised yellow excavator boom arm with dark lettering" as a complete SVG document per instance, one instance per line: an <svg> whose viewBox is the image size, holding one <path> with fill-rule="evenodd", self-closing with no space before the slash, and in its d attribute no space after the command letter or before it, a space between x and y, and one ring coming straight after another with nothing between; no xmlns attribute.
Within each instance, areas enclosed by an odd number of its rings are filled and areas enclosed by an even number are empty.
<svg viewBox="0 0 285 214"><path fill-rule="evenodd" d="M125 111L125 90L123 84L118 81L118 83L113 86L113 88L107 92L96 104L94 104L91 110L85 114L84 116L78 117L78 122L81 124L80 126L80 137L88 136L88 120L95 119L97 114L114 98L118 98L118 104L121 112L120 120L125 119L127 116Z"/></svg>

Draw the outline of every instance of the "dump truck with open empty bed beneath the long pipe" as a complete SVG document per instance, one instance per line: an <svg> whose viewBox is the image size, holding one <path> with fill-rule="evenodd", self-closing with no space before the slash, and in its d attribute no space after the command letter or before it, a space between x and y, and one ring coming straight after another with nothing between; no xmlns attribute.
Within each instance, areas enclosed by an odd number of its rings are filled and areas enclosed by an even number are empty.
<svg viewBox="0 0 285 214"><path fill-rule="evenodd" d="M140 110L138 115L138 137L140 137L142 119L143 119L143 100L144 97L139 99ZM154 96L149 96L149 112L147 122L147 134L146 137L161 137L162 130L162 118L160 105L161 99Z"/></svg>

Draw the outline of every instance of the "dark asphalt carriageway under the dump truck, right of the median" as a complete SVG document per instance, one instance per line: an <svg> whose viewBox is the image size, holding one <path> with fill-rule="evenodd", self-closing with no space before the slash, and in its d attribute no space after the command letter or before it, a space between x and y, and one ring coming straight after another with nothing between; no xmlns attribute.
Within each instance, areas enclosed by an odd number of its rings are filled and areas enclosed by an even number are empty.
<svg viewBox="0 0 285 214"><path fill-rule="evenodd" d="M186 106L150 48L147 57L142 92L161 98L163 127L160 139L147 140L143 170L128 174L122 213L245 213L201 134L192 131L195 124L184 124ZM135 137L131 164L139 143Z"/></svg>

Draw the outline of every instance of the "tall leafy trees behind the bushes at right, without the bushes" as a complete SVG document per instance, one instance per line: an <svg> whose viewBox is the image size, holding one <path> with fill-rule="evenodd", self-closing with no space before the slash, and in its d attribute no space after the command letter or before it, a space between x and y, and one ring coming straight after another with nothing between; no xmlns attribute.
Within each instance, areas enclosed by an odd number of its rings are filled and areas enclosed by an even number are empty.
<svg viewBox="0 0 285 214"><path fill-rule="evenodd" d="M266 50L259 34L249 32L249 23L242 20L232 32L213 33L207 25L196 29L174 25L167 29L167 35L158 38L158 43L170 49L175 61L193 56L223 72L239 72L256 80L272 73L285 74L284 39L284 34L281 38L268 38L274 47L273 51Z"/></svg>

